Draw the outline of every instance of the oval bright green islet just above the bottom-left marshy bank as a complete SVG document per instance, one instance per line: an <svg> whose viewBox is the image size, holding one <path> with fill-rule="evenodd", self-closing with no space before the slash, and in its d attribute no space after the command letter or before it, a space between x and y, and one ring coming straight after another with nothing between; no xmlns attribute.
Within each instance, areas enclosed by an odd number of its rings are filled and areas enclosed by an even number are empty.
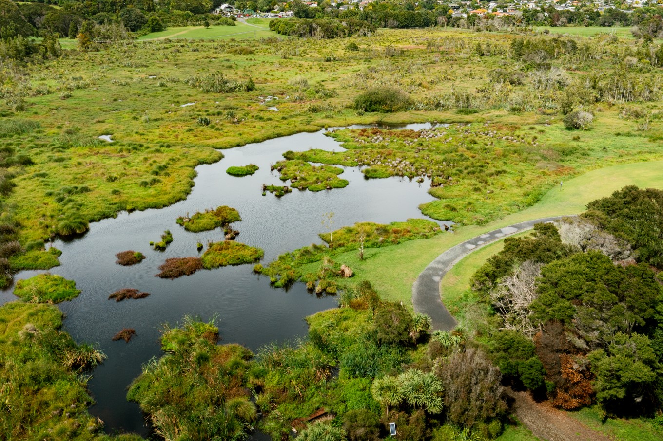
<svg viewBox="0 0 663 441"><path fill-rule="evenodd" d="M38 274L19 280L14 289L15 296L32 303L60 303L74 299L80 293L75 281L55 274Z"/></svg>

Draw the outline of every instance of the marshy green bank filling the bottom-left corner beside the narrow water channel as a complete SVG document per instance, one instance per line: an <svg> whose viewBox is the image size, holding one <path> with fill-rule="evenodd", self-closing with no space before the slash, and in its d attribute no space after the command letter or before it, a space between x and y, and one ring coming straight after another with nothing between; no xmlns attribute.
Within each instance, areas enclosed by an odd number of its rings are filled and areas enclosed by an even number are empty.
<svg viewBox="0 0 663 441"><path fill-rule="evenodd" d="M11 302L0 307L0 438L101 440L88 414L91 397L82 369L103 353L59 330L62 313L51 305ZM100 433L101 432L101 433Z"/></svg>

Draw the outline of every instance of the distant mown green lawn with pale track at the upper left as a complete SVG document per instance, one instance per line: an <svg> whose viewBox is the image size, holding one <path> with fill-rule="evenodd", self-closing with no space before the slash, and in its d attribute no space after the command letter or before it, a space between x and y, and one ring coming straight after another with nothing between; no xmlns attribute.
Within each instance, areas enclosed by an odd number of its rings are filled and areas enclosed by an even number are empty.
<svg viewBox="0 0 663 441"><path fill-rule="evenodd" d="M258 19L255 19L258 20ZM255 23L258 25L258 23ZM272 32L268 28L261 30L255 26L235 22L235 26L184 26L174 27L162 30L161 32L152 32L151 34L143 35L138 40L160 40L164 38L210 38L211 40L219 40L221 38L263 38L276 36L276 32Z"/></svg>

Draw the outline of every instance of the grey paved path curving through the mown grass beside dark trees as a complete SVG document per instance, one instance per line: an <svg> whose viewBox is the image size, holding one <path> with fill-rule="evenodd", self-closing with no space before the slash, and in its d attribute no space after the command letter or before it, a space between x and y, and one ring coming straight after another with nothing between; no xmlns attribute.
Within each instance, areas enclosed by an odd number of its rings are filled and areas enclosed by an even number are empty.
<svg viewBox="0 0 663 441"><path fill-rule="evenodd" d="M489 231L470 240L465 240L465 242L449 248L440 254L436 260L431 262L414 281L414 285L412 285L412 304L414 305L414 311L424 313L430 317L432 330L452 330L456 325L456 321L442 303L442 299L440 298L440 281L442 281L444 275L459 260L474 250L495 242L495 240L511 236L511 234L517 232L529 230L534 224L555 221L556 219L568 216L544 217L542 219L535 219L534 221L505 226L504 228Z"/></svg>

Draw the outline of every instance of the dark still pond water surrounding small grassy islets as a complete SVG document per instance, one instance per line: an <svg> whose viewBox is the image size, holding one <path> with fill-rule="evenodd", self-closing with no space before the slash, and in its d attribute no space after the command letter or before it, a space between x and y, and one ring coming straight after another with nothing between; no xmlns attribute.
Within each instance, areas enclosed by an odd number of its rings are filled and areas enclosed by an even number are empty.
<svg viewBox="0 0 663 441"><path fill-rule="evenodd" d="M429 126L411 124L408 128ZM262 196L263 183L281 183L278 175L270 172L270 164L282 160L286 150L307 148L342 150L322 130L224 150L225 158L217 164L196 168L196 185L185 201L160 210L120 213L115 219L91 224L90 232L82 238L54 244L62 250L62 266L51 272L75 280L82 290L73 301L59 305L66 313L65 329L79 342L99 342L108 356L89 383L97 401L90 413L98 415L107 430L147 431L139 407L128 403L125 395L131 380L141 373L141 364L161 354L158 324L174 323L185 314L210 319L217 313L224 342L256 350L272 340L305 336L305 316L337 306L335 297L316 297L302 283L287 292L272 289L269 278L255 275L251 265L198 271L174 281L154 277L166 258L197 256L196 242L223 240L219 229L186 232L176 224L176 217L219 205L235 207L243 219L233 224L241 232L237 240L263 248L264 263L268 263L282 252L322 242L318 233L325 230L324 213L335 213L334 228L360 221L404 221L422 217L418 205L432 200L426 193L429 181L418 184L398 177L367 180L357 168L347 168L341 175L350 182L344 189L318 193L294 190L280 199L270 193ZM260 167L252 176L238 178L225 173L229 166L249 163ZM174 242L165 252L152 250L149 242L160 240L166 229L172 232ZM141 251L147 259L133 267L116 265L115 254L124 250ZM25 271L16 279L36 272L43 271ZM120 303L108 300L110 293L121 288L136 288L151 295ZM0 304L13 299L11 291L0 292ZM111 341L124 327L136 330L131 342Z"/></svg>

